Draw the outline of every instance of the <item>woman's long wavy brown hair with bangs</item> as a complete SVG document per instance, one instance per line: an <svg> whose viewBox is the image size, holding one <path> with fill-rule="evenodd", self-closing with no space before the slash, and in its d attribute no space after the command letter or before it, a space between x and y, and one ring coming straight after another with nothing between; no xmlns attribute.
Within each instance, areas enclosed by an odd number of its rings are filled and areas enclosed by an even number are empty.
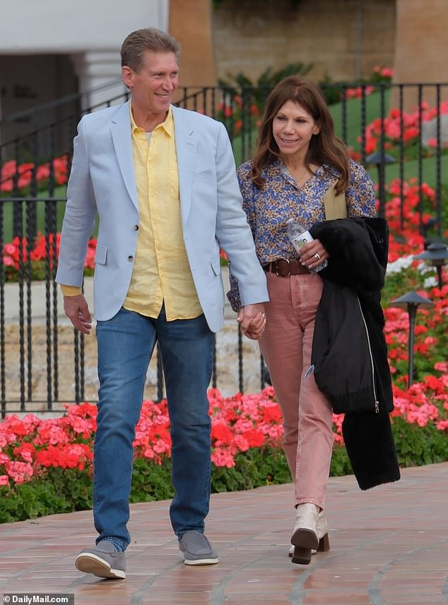
<svg viewBox="0 0 448 605"><path fill-rule="evenodd" d="M252 181L261 189L264 178L261 171L279 157L278 145L272 134L272 122L278 111L288 101L300 103L319 126L319 134L314 134L305 156L305 164L322 166L328 163L340 173L336 183L336 193L348 187L348 152L346 145L334 134L334 122L320 88L302 76L288 76L277 84L266 99L261 118L257 151L252 160Z"/></svg>

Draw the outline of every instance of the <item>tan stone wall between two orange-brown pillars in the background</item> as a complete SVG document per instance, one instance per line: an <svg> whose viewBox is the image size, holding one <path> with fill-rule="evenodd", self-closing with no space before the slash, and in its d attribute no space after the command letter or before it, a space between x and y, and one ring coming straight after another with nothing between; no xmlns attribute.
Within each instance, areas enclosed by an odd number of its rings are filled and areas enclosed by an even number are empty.
<svg viewBox="0 0 448 605"><path fill-rule="evenodd" d="M256 7L256 8L254 8ZM213 11L218 77L312 63L309 76L350 80L394 64L395 0L226 0Z"/></svg>

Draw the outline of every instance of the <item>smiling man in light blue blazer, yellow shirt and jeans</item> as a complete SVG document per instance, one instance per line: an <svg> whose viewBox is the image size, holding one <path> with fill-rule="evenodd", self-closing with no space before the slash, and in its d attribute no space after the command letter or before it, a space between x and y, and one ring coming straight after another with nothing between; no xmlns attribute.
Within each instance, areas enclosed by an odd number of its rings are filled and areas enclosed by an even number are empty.
<svg viewBox="0 0 448 605"><path fill-rule="evenodd" d="M242 211L232 149L222 124L171 105L179 43L137 30L122 45L131 100L83 117L74 142L56 281L73 325L88 334L81 294L95 217L98 428L95 435L95 548L76 567L124 578L130 536L132 442L156 340L162 352L172 438L172 527L187 565L218 563L204 536L210 498L214 333L223 325L219 248L232 263L249 338L264 330L264 271Z"/></svg>

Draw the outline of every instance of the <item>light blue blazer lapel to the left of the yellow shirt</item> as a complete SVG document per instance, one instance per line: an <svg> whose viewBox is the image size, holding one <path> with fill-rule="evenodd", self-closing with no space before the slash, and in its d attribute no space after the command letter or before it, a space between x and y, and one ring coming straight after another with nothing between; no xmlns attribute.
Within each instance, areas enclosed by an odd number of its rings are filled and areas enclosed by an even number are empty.
<svg viewBox="0 0 448 605"><path fill-rule="evenodd" d="M121 105L117 113L114 114L111 132L115 154L117 155L120 171L122 171L124 185L126 186L134 206L138 209L134 159L132 155L129 103L130 101Z"/></svg>

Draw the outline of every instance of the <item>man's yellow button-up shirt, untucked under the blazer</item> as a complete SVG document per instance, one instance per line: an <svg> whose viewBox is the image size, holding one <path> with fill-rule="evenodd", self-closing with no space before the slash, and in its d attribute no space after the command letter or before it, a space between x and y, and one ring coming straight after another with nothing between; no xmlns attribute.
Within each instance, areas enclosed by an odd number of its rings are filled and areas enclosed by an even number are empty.
<svg viewBox="0 0 448 605"><path fill-rule="evenodd" d="M123 306L155 318L165 302L168 321L198 317L202 309L182 235L172 110L150 137L131 113L131 132L140 220Z"/></svg>

